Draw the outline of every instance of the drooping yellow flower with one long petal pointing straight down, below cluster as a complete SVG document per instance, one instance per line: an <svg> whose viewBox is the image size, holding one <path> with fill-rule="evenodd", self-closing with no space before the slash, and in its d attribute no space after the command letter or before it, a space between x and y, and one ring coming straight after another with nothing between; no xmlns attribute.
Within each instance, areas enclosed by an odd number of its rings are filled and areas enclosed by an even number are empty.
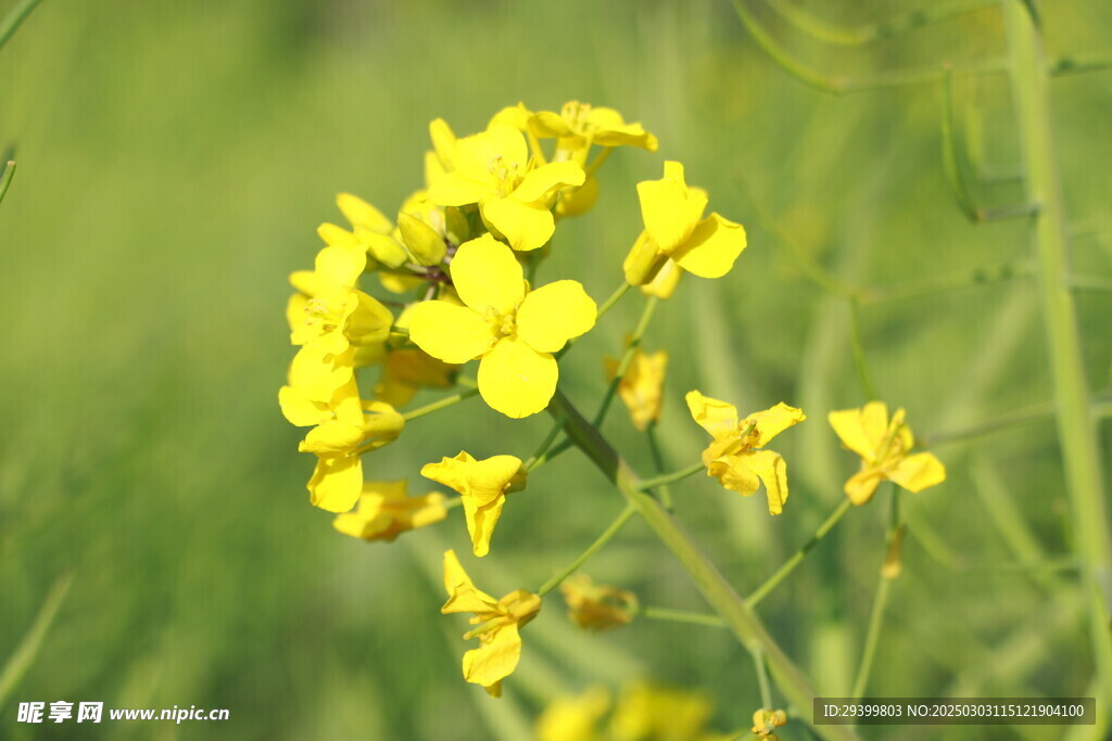
<svg viewBox="0 0 1112 741"><path fill-rule="evenodd" d="M471 549L481 557L490 551L490 535L502 517L506 494L525 489L527 471L514 455L477 461L460 451L455 458L427 463L420 474L459 492Z"/></svg>

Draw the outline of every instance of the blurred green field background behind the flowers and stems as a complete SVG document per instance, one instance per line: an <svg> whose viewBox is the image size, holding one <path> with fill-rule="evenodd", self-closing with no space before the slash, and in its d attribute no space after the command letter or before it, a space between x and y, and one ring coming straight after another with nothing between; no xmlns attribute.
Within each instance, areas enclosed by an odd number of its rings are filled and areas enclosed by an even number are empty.
<svg viewBox="0 0 1112 741"><path fill-rule="evenodd" d="M847 24L916 6L798 4ZM1042 4L1052 52L1108 48L1108 3ZM838 73L1000 54L997 16L837 49L761 11L777 38ZM756 47L725 0L46 0L0 51L0 144L16 142L19 161L0 206L0 661L51 584L69 572L73 582L0 708L0 737L526 738L554 697L638 677L702 688L714 728L748 728L756 682L726 631L643 620L587 635L557 594L525 631L507 698L488 700L459 677L470 648L461 621L438 612L439 553L466 551L460 512L393 545L334 532L307 501L301 431L278 411L292 357L286 276L311 264L316 226L340 218L335 194L393 213L420 184L430 119L463 134L518 100L558 110L570 99L643 121L661 150L615 152L594 211L560 226L543 281L576 278L608 296L641 229L634 183L658 178L666 158L748 229L733 273L688 278L646 339L672 351L661 433L676 468L705 444L683 407L689 389L743 411L783 400L811 418L776 441L792 475L782 517L770 519L763 494L742 499L702 478L676 488L677 517L736 589L759 584L838 503L854 461L825 415L866 401L845 302L806 280L791 244L848 283L893 292L862 307L867 362L881 395L935 435L950 469L945 484L904 498L905 568L873 693L1085 693L1092 667L1050 418L945 438L1051 392L1031 279L926 290L1002 266L1022 272L1032 252L1022 221L974 227L954 204L937 86L811 90ZM1112 74L1055 81L1053 101L1074 263L1108 274ZM999 180L977 197L1021 199L1009 179L1019 152L1006 77L959 77L955 102L961 140ZM1109 297L1080 297L1095 389L1110 380ZM599 358L618 352L637 304L627 298L568 356L562 383L584 408L600 397ZM526 458L548 424L474 400L414 422L367 459L368 475L410 477L411 491L428 491L420 464L465 447ZM620 409L606 430L649 469ZM1106 452L1108 424L1103 433ZM761 605L821 694L848 693L886 499L852 511ZM535 589L620 508L569 453L510 499L492 555L465 567L495 594ZM1016 530L1000 525L1009 514L1042 552L1024 561L1010 548ZM705 609L637 522L586 571L647 604ZM29 700L196 704L231 718L29 727L16 722ZM1060 729L987 731L945 738L1053 739ZM808 738L800 723L781 737Z"/></svg>

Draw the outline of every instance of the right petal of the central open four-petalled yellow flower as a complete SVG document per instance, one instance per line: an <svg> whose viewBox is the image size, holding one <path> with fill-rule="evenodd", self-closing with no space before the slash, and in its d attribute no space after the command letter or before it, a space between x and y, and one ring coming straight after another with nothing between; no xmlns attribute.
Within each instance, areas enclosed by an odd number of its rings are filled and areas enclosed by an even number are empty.
<svg viewBox="0 0 1112 741"><path fill-rule="evenodd" d="M525 297L517 310L517 336L538 352L557 352L595 326L598 307L574 280L548 283Z"/></svg>

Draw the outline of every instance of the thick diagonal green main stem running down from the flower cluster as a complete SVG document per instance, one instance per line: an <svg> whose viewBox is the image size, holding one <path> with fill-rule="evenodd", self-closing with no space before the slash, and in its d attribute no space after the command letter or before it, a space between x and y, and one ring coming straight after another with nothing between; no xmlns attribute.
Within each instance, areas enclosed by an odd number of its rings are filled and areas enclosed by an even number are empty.
<svg viewBox="0 0 1112 741"><path fill-rule="evenodd" d="M656 499L638 490L637 474L559 389L556 390L548 410L554 415L566 415L564 429L568 438L614 483L626 501L672 551L695 587L726 622L742 645L751 651L759 649L764 653L781 692L806 717L815 698L814 688L795 662L768 634L756 614L745 605L729 582L668 514L668 511ZM813 730L824 739L858 738L852 729L842 725L817 725Z"/></svg>

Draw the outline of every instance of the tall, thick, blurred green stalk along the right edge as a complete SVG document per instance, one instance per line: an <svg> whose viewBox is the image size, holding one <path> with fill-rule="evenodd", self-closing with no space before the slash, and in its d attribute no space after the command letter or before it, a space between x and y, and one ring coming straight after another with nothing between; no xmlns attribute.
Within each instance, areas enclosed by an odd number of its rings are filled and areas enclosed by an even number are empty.
<svg viewBox="0 0 1112 741"><path fill-rule="evenodd" d="M1051 359L1058 437L1065 468L1073 531L1088 592L1096 672L1112 694L1112 534L1105 503L1098 429L1090 404L1081 330L1069 273L1069 223L1051 126L1050 62L1035 19L1021 0L1001 0L1012 62L1012 90L1029 200L1042 206L1033 221L1039 300ZM1108 709L1098 710L1093 738L1108 729Z"/></svg>

